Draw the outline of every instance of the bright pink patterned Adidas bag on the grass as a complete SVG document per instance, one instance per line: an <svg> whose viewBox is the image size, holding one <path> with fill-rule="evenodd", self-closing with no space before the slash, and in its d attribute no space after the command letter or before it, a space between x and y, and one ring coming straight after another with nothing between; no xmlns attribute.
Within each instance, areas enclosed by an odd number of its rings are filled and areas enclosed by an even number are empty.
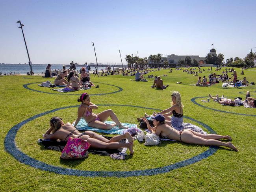
<svg viewBox="0 0 256 192"><path fill-rule="evenodd" d="M61 153L61 159L83 159L88 157L90 144L80 138L69 137L69 140Z"/></svg>

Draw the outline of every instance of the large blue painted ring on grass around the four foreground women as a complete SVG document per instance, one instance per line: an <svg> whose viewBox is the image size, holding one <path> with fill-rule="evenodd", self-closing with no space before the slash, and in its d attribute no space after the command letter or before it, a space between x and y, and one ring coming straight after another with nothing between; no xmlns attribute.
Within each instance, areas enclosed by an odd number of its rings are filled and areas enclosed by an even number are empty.
<svg viewBox="0 0 256 192"><path fill-rule="evenodd" d="M46 111L44 113L37 114L35 116L32 116L19 124L13 126L7 133L6 138L4 140L4 146L5 150L10 153L15 159L18 161L27 164L29 166L32 166L34 168L54 172L56 174L63 174L63 175L75 175L75 176L84 176L84 177L132 177L132 176L146 176L146 175L156 175L156 174L163 174L170 172L171 170L175 170L177 168L181 168L184 166L187 166L189 164L193 164L195 162L201 161L202 159L206 159L213 155L218 147L216 146L210 146L208 150L204 151L203 153L200 153L199 155L196 155L195 157L192 157L190 159L186 159L184 161L176 162L174 164L170 164L168 166L154 168L154 169L146 169L146 170L135 170L135 171L84 171L84 170L75 170L75 169L68 169L68 168L62 168L58 166L52 166L50 164L46 164L45 162L38 161L36 159L33 159L32 157L26 155L22 151L20 151L16 144L15 144L15 137L17 134L17 131L26 123L35 120L38 117L41 117L45 114L53 113L55 111L61 110L61 109L67 109L72 107L78 107L76 106L69 106L69 107L61 107L57 109L53 109L51 111ZM143 109L152 109L154 111L161 111L160 109L153 109L148 107L140 107L140 106L134 106L134 105L115 105L115 104L104 104L99 106L121 106L121 107L137 107L137 108L143 108ZM187 119L193 120L200 125L204 126L210 133L215 133L211 127L208 125L195 120L191 117L184 116Z"/></svg>

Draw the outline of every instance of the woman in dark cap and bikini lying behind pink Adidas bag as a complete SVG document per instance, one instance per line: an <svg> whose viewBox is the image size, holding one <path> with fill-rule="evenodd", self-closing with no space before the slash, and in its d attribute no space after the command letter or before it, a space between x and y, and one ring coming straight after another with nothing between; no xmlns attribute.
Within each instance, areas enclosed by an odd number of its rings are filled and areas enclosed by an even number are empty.
<svg viewBox="0 0 256 192"><path fill-rule="evenodd" d="M76 127L72 126L69 122L64 124L61 118L52 117L50 120L50 129L43 135L44 138L48 139L60 139L61 141L67 141L69 137L81 138L87 140L91 144L92 148L98 149L118 149L118 148L129 148L130 155L133 151L133 138L130 133L124 133L123 135L117 135L110 140L98 135L93 131L85 131L80 133ZM120 140L126 138L129 143L121 143Z"/></svg>

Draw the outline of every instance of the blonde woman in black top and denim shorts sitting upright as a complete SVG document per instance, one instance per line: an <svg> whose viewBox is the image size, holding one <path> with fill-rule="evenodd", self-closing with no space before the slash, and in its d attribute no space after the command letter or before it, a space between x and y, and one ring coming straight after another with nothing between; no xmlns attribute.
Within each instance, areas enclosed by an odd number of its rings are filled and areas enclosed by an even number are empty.
<svg viewBox="0 0 256 192"><path fill-rule="evenodd" d="M173 127L180 127L183 123L183 105L181 102L181 96L178 91L173 91L171 94L172 102L171 107L161 111L159 114L162 114L166 123Z"/></svg>

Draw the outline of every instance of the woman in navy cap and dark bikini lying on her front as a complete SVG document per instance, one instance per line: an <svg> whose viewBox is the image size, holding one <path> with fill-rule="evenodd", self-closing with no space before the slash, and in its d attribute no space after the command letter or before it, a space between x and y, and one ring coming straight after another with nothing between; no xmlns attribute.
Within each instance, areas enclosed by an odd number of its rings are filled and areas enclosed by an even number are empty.
<svg viewBox="0 0 256 192"><path fill-rule="evenodd" d="M183 129L181 131L177 131L173 127L169 126L165 122L165 117L161 114L157 114L156 116L152 116L154 127L151 127L147 118L143 117L144 122L147 123L148 130L152 133L155 133L157 136L163 138L169 138L172 140L177 140L184 143L189 144L198 144L198 145L215 145L215 146L225 146L232 150L238 151L237 148L231 142L222 142L217 139L227 139L232 140L230 136L226 135L216 135L216 134L208 134L204 135L201 133L197 133L190 129Z"/></svg>

